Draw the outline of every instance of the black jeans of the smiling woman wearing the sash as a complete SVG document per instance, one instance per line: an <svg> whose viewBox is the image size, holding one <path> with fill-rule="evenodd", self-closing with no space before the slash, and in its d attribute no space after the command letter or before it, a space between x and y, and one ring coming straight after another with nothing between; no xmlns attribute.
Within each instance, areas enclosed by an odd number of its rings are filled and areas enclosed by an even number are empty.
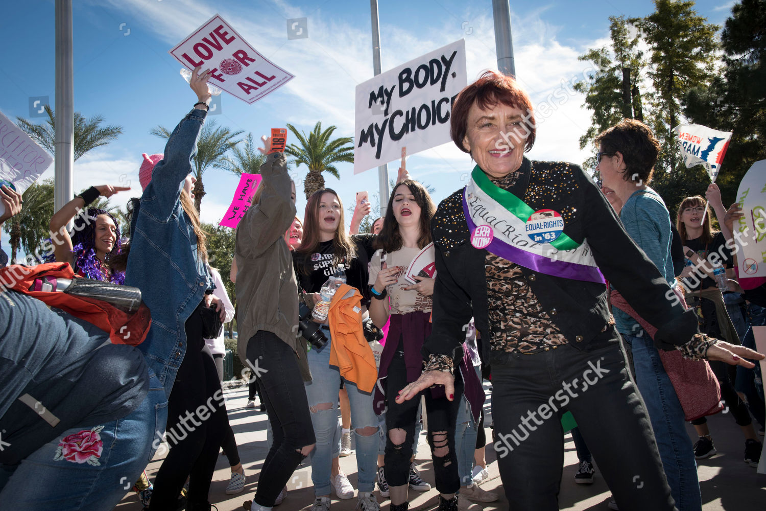
<svg viewBox="0 0 766 511"><path fill-rule="evenodd" d="M493 352L492 415L510 509L558 509L568 410L598 460L620 511L676 509L652 427L624 352L565 344L534 355Z"/></svg>

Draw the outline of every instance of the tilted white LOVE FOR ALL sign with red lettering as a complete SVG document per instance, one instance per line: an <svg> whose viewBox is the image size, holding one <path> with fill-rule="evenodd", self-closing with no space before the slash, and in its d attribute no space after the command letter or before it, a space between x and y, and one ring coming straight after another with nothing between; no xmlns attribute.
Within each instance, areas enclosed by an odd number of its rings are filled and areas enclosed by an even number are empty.
<svg viewBox="0 0 766 511"><path fill-rule="evenodd" d="M293 79L255 51L220 15L206 21L169 54L191 70L210 68L209 83L245 103L254 103Z"/></svg>

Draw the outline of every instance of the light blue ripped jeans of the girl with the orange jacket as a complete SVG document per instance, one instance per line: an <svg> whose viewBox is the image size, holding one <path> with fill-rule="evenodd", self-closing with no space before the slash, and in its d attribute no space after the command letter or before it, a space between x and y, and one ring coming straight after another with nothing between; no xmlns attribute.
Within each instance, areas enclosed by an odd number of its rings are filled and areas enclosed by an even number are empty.
<svg viewBox="0 0 766 511"><path fill-rule="evenodd" d="M332 457L340 452L338 430L338 391L340 372L330 367L330 331L322 326L327 336L327 343L322 349L312 346L308 353L309 369L313 380L306 382L306 398L309 401L311 422L316 436L316 447L311 454L311 480L316 496L330 493L330 467ZM378 474L378 446L380 437L377 432L369 436L358 433L364 427L378 428L378 416L372 408L372 394L359 391L352 382L345 382L351 405L351 422L356 429L356 466L358 469L358 490L375 490L375 477ZM328 410L321 410L318 405L330 403Z"/></svg>

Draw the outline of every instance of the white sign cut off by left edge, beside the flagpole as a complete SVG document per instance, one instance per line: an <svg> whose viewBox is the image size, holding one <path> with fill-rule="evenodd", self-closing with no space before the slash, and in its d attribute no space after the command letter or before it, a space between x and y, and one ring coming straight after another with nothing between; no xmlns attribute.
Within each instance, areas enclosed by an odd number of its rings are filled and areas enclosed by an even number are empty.
<svg viewBox="0 0 766 511"><path fill-rule="evenodd" d="M51 166L53 156L0 112L0 179L24 193ZM0 215L5 207L0 203Z"/></svg>

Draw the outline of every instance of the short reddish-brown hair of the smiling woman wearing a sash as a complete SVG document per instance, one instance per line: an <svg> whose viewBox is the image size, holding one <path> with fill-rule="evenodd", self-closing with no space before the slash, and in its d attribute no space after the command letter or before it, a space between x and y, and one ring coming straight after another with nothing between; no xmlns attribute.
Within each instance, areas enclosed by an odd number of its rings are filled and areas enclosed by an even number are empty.
<svg viewBox="0 0 766 511"><path fill-rule="evenodd" d="M479 80L473 82L465 89L461 90L452 105L450 116L450 136L455 145L463 152L468 150L463 147L463 139L468 131L468 113L471 106L478 105L481 109L488 106L495 106L503 103L514 108L518 108L526 113L524 127L529 133L527 136L525 149L527 152L535 145L535 133L537 125L535 116L532 114L532 100L512 77L498 71L484 71Z"/></svg>

